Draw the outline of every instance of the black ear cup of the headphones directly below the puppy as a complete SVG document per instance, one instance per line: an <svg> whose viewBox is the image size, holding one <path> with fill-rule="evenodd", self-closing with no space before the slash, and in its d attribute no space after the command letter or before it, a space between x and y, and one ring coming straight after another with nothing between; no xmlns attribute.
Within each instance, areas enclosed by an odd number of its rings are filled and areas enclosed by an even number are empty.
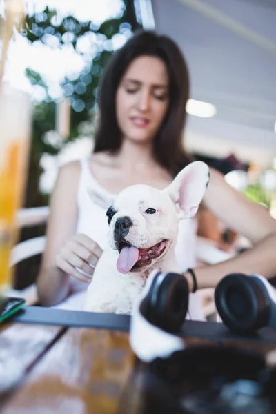
<svg viewBox="0 0 276 414"><path fill-rule="evenodd" d="M145 298L146 319L164 331L179 331L186 318L188 297L188 282L183 275L158 273Z"/></svg>

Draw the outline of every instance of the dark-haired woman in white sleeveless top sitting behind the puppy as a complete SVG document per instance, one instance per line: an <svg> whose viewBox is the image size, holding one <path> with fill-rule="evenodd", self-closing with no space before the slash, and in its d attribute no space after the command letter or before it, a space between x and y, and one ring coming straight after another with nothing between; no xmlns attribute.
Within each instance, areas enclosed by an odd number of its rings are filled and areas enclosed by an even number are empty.
<svg viewBox="0 0 276 414"><path fill-rule="evenodd" d="M68 298L64 307L81 308L107 243L108 196L138 183L165 188L191 161L182 146L188 96L186 63L168 37L138 32L110 59L101 80L95 149L60 169L52 193L37 280L42 305ZM276 275L276 221L264 207L237 193L215 170L204 204L254 247L226 262L194 268L198 288L215 287L235 271ZM182 221L177 255L183 271L195 266L195 237L195 221ZM190 273L185 275L193 286Z"/></svg>

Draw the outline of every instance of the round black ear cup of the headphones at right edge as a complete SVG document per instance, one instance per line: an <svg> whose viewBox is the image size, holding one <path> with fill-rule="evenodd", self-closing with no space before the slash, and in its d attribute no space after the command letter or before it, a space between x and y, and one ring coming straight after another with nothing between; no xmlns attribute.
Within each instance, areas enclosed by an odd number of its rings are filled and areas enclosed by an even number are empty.
<svg viewBox="0 0 276 414"><path fill-rule="evenodd" d="M254 279L242 273L221 279L215 288L215 304L224 324L238 333L250 333L268 323L268 296Z"/></svg>

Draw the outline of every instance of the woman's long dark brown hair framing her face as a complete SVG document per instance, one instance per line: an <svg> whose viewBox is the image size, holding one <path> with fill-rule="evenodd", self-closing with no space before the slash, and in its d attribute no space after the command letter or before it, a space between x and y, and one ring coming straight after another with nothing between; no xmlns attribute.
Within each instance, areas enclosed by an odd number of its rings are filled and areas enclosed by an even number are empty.
<svg viewBox="0 0 276 414"><path fill-rule="evenodd" d="M122 134L117 124L115 96L130 63L137 57L159 57L166 64L169 77L169 106L164 121L154 137L154 157L173 176L190 163L183 148L186 102L189 97L188 68L174 41L155 32L139 31L117 50L108 62L99 86L99 123L94 152L118 152Z"/></svg>

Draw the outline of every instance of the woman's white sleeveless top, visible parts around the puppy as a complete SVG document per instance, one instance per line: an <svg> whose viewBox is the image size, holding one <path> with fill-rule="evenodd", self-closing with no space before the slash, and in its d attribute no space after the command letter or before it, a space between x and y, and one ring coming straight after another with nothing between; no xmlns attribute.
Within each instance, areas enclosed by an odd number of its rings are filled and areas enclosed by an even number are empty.
<svg viewBox="0 0 276 414"><path fill-rule="evenodd" d="M99 184L90 171L89 158L80 160L81 173L77 190L78 217L76 233L87 235L104 249L108 243L108 221L106 210L115 197ZM110 204L109 204L110 200ZM181 271L195 267L195 242L196 224L193 219L181 220L179 223L179 235L175 254ZM70 281L71 294L55 308L81 311L84 295L88 288L86 282L81 282L75 277ZM205 320L201 310L199 297L196 293L190 293L189 312L191 319Z"/></svg>

